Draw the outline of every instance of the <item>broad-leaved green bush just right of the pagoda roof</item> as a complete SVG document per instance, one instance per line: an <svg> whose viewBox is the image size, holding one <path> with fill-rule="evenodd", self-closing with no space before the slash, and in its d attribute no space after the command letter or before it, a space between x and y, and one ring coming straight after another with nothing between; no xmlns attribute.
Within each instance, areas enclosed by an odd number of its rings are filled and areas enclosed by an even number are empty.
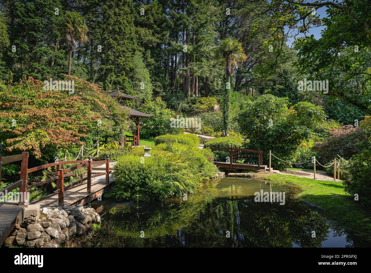
<svg viewBox="0 0 371 273"><path fill-rule="evenodd" d="M141 118L141 136L147 139L170 133L173 129L170 127L170 118L174 116L173 111L166 107L166 103L160 97L155 100L146 100L139 111L152 114L151 117Z"/></svg>

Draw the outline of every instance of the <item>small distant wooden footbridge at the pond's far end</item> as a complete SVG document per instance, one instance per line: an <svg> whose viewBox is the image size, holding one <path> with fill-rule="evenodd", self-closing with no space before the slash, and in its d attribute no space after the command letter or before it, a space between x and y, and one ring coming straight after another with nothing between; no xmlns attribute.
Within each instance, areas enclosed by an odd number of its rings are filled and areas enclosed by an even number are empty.
<svg viewBox="0 0 371 273"><path fill-rule="evenodd" d="M249 150L240 148L210 148L211 150L221 150L229 152L226 161L214 161L214 164L225 170L266 170L267 165L263 165L263 152L260 150ZM253 156L251 154L256 154ZM237 161L256 162L256 164L239 163Z"/></svg>

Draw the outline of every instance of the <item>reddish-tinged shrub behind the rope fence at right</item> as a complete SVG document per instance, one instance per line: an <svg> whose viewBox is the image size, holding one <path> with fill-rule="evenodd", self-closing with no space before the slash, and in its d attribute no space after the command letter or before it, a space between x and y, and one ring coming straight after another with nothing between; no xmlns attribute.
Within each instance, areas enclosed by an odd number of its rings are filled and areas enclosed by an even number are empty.
<svg viewBox="0 0 371 273"><path fill-rule="evenodd" d="M362 151L362 146L367 142L365 131L353 125L344 125L339 129L330 131L322 143L313 144L312 151L321 157L323 162L332 161L335 157L348 160Z"/></svg>

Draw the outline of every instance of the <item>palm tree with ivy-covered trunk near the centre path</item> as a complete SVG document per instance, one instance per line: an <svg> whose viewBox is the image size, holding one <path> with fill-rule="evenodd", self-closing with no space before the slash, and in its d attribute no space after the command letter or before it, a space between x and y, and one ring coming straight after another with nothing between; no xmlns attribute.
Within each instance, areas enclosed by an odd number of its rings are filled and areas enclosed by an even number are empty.
<svg viewBox="0 0 371 273"><path fill-rule="evenodd" d="M247 56L243 53L242 43L233 37L228 37L220 41L220 45L216 50L215 58L221 62L224 67L223 83L226 88L223 98L223 128L226 134L228 133L229 124L229 99L230 91L232 89L232 76L234 75L234 68L239 67L242 62L246 61ZM229 76L229 77L228 77ZM229 80L229 88L227 83Z"/></svg>

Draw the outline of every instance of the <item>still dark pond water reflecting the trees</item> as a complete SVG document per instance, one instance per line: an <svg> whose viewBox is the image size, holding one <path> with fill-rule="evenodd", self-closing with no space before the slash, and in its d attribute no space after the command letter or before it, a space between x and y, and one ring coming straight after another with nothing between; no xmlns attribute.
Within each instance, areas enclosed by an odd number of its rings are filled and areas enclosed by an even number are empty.
<svg viewBox="0 0 371 273"><path fill-rule="evenodd" d="M269 202L271 199L255 202L254 194L261 190L285 192L285 204ZM101 214L101 225L71 243L75 247L370 246L290 200L293 191L252 179L224 178L162 205L117 202L103 196L102 201L92 203Z"/></svg>

